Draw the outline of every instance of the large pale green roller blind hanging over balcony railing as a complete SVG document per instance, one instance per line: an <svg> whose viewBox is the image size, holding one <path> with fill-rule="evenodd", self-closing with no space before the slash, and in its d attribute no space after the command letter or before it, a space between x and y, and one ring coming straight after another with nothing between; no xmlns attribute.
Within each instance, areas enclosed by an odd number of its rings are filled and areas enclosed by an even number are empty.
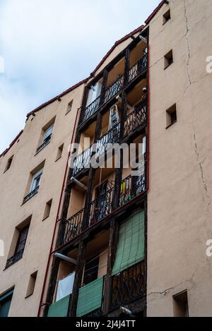
<svg viewBox="0 0 212 331"><path fill-rule="evenodd" d="M144 211L142 210L126 219L126 222L120 226L112 275L143 260L144 241Z"/></svg>

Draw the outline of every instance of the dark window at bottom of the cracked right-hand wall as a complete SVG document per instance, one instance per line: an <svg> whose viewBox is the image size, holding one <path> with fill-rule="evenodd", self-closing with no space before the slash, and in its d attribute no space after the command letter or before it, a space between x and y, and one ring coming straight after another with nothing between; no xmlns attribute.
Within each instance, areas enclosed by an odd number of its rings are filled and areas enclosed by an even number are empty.
<svg viewBox="0 0 212 331"><path fill-rule="evenodd" d="M174 317L189 317L189 305L187 291L173 296Z"/></svg>

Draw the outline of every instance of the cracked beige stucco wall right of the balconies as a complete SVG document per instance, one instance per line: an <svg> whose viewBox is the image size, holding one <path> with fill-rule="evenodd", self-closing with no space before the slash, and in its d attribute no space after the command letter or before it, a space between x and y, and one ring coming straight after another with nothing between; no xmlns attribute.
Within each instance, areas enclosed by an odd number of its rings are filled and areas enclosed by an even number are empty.
<svg viewBox="0 0 212 331"><path fill-rule="evenodd" d="M171 0L150 24L150 189L148 316L173 316L172 296L187 289L190 316L211 316L212 236L211 0ZM163 56L174 63L164 70ZM177 123L165 110L177 103Z"/></svg>

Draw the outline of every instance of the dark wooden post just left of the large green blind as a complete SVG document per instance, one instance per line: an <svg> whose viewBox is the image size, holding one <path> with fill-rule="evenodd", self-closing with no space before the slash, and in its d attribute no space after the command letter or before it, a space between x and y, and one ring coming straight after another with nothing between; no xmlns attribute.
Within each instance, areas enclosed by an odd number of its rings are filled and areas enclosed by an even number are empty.
<svg viewBox="0 0 212 331"><path fill-rule="evenodd" d="M119 239L119 226L114 218L110 221L110 241L107 257L107 277L105 283L105 306L104 315L108 315L112 300L112 267L117 250L117 241Z"/></svg>

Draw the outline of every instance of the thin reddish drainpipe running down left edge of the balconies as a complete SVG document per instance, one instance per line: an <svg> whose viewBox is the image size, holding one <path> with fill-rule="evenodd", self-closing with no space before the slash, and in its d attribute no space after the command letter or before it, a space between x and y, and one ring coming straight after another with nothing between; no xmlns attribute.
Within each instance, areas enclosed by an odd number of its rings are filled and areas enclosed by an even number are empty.
<svg viewBox="0 0 212 331"><path fill-rule="evenodd" d="M78 111L79 111L79 109L80 108L77 109L76 119L75 119L74 126L73 126L73 133L72 133L72 136L71 136L71 143L73 143L74 133L76 131L76 123L78 121L78 114L79 114ZM66 184L67 171L68 171L68 168L69 168L69 157L70 157L70 155L71 155L71 152L69 151L68 160L66 162L66 170L65 170L65 174L64 174L64 181L63 181L63 185L62 185L62 188L61 188L61 194L60 194L60 198L59 198L59 205L58 205L58 209L57 209L56 222L54 224L54 232L53 232L52 243L51 243L51 247L50 247L50 251L49 251L49 258L47 260L47 269L46 269L46 272L45 272L45 279L44 279L44 283L42 285L42 292L41 292L41 296L40 296L40 304L39 304L39 308L38 308L38 312L37 312L37 317L40 317L40 311L41 311L41 308L42 308L42 300L43 300L44 293L45 293L47 275L48 275L48 271L49 271L49 265L50 265L50 261L51 261L52 250L53 250L53 247L54 247L54 236L56 234L57 223L58 223L58 219L59 219L59 210L60 210L60 206L61 206L61 200L62 200L62 197L63 197L64 189L66 187L65 184Z"/></svg>

